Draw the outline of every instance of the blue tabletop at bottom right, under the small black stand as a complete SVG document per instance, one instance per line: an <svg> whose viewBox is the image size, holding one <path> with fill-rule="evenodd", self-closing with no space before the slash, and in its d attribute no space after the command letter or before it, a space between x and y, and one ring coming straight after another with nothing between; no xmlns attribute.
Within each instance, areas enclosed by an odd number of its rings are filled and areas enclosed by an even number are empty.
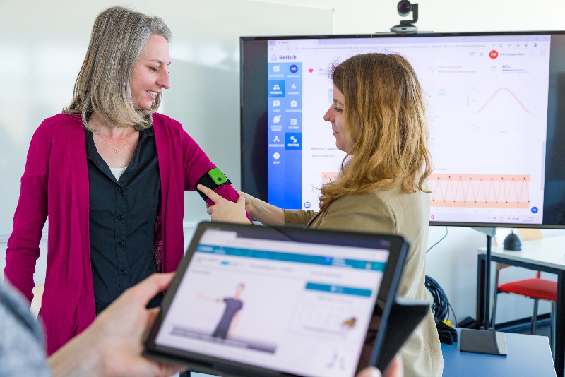
<svg viewBox="0 0 565 377"><path fill-rule="evenodd" d="M460 335L460 329L457 331ZM555 376L547 337L512 333L504 335L508 356L460 352L459 342L453 345L442 344L444 377Z"/></svg>

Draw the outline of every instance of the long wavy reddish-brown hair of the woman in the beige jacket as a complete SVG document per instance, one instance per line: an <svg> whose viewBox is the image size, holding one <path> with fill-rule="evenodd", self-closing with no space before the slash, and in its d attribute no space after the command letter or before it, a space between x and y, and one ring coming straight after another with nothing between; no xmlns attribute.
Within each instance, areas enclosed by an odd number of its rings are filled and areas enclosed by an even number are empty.
<svg viewBox="0 0 565 377"><path fill-rule="evenodd" d="M320 208L350 193L402 188L429 192L424 96L414 68L398 54L360 54L333 68L333 84L345 97L347 152L335 181L321 188Z"/></svg>

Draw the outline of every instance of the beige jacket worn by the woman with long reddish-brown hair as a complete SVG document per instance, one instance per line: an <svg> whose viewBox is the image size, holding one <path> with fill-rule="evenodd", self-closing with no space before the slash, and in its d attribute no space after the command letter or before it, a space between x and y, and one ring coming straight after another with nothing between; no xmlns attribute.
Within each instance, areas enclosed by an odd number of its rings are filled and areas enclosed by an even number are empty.
<svg viewBox="0 0 565 377"><path fill-rule="evenodd" d="M427 300L426 248L428 240L429 195L400 188L348 195L333 202L326 213L285 210L287 225L307 225L314 229L350 230L400 234L408 239L406 258L398 295ZM406 377L441 376L444 359L432 311L416 328L400 350Z"/></svg>

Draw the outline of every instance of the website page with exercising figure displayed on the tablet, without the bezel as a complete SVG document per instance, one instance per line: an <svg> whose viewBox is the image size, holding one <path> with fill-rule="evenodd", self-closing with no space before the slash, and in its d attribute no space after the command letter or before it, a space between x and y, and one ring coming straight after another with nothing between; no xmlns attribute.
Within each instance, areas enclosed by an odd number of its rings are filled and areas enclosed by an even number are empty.
<svg viewBox="0 0 565 377"><path fill-rule="evenodd" d="M155 343L287 373L352 376L388 256L207 229Z"/></svg>

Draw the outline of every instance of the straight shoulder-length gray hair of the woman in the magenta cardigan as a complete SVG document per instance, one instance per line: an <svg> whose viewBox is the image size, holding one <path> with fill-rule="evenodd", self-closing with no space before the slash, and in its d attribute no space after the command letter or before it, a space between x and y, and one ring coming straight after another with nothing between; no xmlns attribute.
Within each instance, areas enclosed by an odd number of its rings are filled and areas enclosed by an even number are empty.
<svg viewBox="0 0 565 377"><path fill-rule="evenodd" d="M73 100L64 114L81 113L85 128L96 112L110 124L136 129L152 125L161 93L150 109L136 109L131 95L131 72L151 35L170 42L172 33L162 18L114 6L97 16L90 44L79 71Z"/></svg>

